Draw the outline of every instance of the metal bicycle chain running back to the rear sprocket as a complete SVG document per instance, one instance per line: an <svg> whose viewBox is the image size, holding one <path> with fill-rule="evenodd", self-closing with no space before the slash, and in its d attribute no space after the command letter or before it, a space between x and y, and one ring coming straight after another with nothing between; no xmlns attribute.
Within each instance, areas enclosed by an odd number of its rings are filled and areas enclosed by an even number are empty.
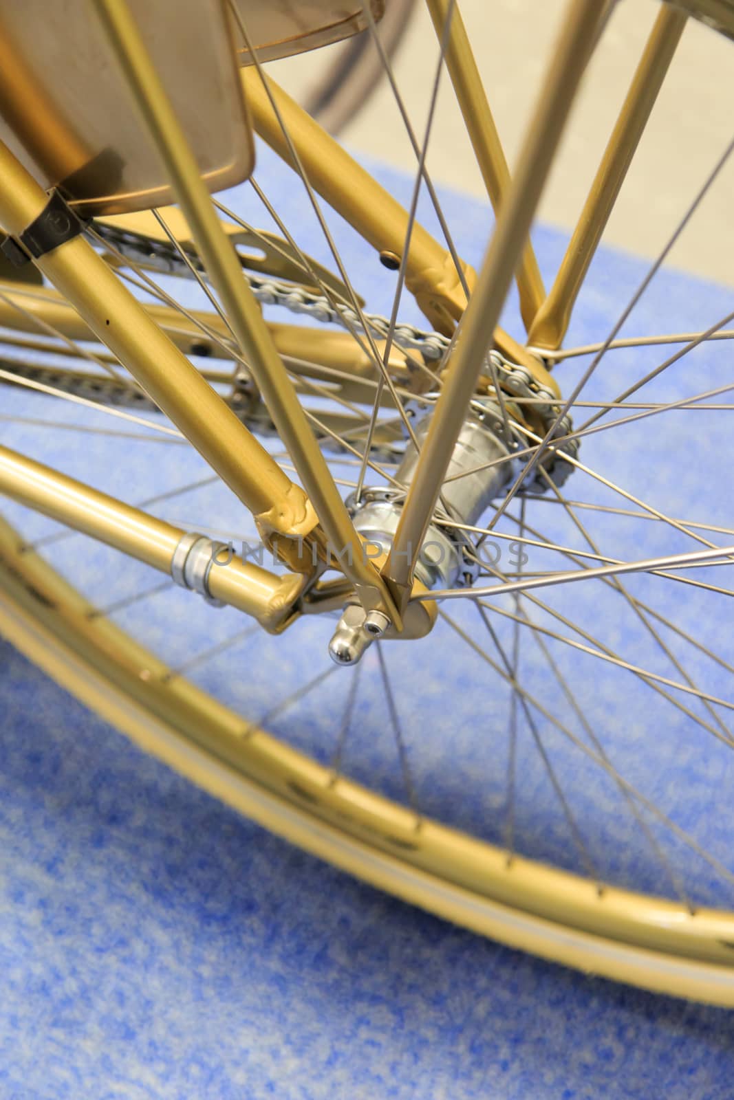
<svg viewBox="0 0 734 1100"><path fill-rule="evenodd" d="M129 260L139 263L144 261L149 266L153 263L155 268L164 274L180 274L190 277L190 272L186 263L172 244L162 241L152 241L150 238L143 238L128 230L117 230L109 224L95 224L95 232L105 241L109 241L118 252L122 253ZM188 257L196 267L202 271L201 263L196 253L189 253ZM379 314L360 314L344 302L330 301L326 295L315 294L305 287L295 286L292 283L281 283L273 278L265 278L252 272L247 273L247 278L255 298L263 306L278 306L292 314L310 317L321 324L340 324L343 328L358 332L364 332L366 324L370 333L380 340L386 339L390 334L391 323L388 319ZM393 330L393 342L404 351L418 352L427 362L438 362L443 358L451 341L440 332L427 332L412 324L397 324ZM511 400L513 397L533 400L533 408L543 424L545 433L548 433L554 428L555 437L570 435L572 431L572 420L568 414L556 425L558 398L551 391L543 387L526 367L517 363L512 363L500 352L492 351L490 355L499 375L501 375L501 388L504 395L508 396ZM114 382L112 378L96 377L94 383L90 383L89 378L85 378L81 373L74 374L69 380L69 372L54 370L51 366L25 367L24 370L22 367L23 364L21 363L12 363L14 373L23 374L25 377L33 377L35 381L44 382L47 385L54 385L57 388L64 389L65 393L74 393L77 396L92 399L98 399L100 395L103 395L113 405L130 404L138 408L156 407L152 402L147 402L144 395L138 391L132 391L128 387L125 393L124 385ZM234 408L234 411L247 421L250 415L249 410L245 411L238 408L237 400L232 398L237 398L237 391L233 392L228 400ZM262 430L264 427L262 416L252 416L251 418L255 421L255 427ZM524 446L523 442L518 441L517 450L523 449ZM563 440L556 447L547 449L543 465L546 472L554 477L557 485L562 485L573 470L571 463L562 461L563 454L568 454L574 459L578 450L579 442L574 439ZM558 458L561 459L560 462L556 461ZM532 488L533 492L543 492L547 488L547 485L545 479L534 474L526 487Z"/></svg>

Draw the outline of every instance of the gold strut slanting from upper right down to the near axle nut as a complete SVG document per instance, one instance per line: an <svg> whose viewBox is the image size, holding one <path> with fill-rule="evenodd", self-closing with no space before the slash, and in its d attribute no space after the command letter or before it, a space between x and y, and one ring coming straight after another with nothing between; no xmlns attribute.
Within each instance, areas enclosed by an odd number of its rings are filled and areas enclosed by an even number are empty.
<svg viewBox="0 0 734 1100"><path fill-rule="evenodd" d="M405 592L606 0L572 0L430 420L383 574Z"/></svg>

